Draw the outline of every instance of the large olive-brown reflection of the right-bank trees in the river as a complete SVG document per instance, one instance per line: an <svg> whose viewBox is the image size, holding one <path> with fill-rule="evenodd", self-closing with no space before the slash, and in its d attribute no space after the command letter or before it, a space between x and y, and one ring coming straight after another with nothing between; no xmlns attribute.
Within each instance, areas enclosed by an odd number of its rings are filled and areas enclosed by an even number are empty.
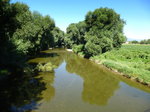
<svg viewBox="0 0 150 112"><path fill-rule="evenodd" d="M79 58L75 54L71 55L69 54L66 58L66 69L83 78L83 101L90 104L106 105L115 90L119 88L119 81L89 61Z"/></svg>

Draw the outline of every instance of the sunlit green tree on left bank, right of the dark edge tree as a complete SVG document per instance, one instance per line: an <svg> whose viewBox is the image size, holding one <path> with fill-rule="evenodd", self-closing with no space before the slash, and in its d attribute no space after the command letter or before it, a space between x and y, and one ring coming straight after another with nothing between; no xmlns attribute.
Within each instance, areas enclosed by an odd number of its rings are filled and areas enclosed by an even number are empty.
<svg viewBox="0 0 150 112"><path fill-rule="evenodd" d="M49 16L43 17L38 12L32 14L27 10L25 4L17 3L14 6L19 7L19 9L24 7L17 13L16 18L19 28L12 38L17 50L25 55L36 55L40 50L53 47L54 39L51 31L55 27L54 21Z"/></svg>

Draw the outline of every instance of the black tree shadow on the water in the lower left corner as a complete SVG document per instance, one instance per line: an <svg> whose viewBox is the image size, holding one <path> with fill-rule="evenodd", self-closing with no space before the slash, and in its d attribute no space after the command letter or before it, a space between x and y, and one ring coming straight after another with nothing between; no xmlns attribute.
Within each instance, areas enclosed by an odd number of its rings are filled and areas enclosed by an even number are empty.
<svg viewBox="0 0 150 112"><path fill-rule="evenodd" d="M37 109L45 90L42 78L33 74L15 73L0 80L1 112L26 112Z"/></svg>

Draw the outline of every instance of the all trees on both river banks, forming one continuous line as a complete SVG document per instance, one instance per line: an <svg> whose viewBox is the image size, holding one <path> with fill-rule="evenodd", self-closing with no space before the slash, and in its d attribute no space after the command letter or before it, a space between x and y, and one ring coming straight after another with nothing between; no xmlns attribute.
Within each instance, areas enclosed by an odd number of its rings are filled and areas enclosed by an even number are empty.
<svg viewBox="0 0 150 112"><path fill-rule="evenodd" d="M71 48L86 58L119 48L126 41L124 24L113 9L99 8L70 24L65 34L50 16L31 12L24 3L1 0L0 74L24 68L26 59L48 48Z"/></svg>

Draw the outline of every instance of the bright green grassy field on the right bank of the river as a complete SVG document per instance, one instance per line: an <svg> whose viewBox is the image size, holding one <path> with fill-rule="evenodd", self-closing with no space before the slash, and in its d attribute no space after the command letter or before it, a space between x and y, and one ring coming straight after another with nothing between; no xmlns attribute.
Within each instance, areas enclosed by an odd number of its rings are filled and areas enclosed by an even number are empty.
<svg viewBox="0 0 150 112"><path fill-rule="evenodd" d="M150 45L123 45L91 59L139 82L150 83Z"/></svg>

